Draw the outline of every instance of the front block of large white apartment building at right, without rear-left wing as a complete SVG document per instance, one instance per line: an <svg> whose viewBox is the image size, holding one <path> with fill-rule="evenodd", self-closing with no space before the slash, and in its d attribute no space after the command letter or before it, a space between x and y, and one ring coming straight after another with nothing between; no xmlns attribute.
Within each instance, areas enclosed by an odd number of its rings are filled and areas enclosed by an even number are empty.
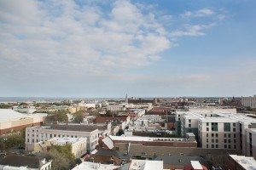
<svg viewBox="0 0 256 170"><path fill-rule="evenodd" d="M202 148L240 150L245 156L253 156L253 128L256 128L256 119L245 115L217 114L204 117L199 120L198 141Z"/></svg>

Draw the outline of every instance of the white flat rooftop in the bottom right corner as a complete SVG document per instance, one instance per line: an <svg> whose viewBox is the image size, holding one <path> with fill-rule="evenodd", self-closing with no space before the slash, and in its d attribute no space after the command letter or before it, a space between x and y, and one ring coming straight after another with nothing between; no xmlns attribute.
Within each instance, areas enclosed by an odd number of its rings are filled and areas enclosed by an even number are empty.
<svg viewBox="0 0 256 170"><path fill-rule="evenodd" d="M230 155L241 167L247 170L256 170L256 161L253 157Z"/></svg>

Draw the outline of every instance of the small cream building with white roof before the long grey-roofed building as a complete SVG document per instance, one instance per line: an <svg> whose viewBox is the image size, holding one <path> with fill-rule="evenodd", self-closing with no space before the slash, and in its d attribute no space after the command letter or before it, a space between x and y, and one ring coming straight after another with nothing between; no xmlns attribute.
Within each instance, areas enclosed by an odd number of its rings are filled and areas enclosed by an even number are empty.
<svg viewBox="0 0 256 170"><path fill-rule="evenodd" d="M83 156L86 153L86 138L53 138L45 142L34 144L34 152L47 151L51 145L71 145L71 152L76 158Z"/></svg>

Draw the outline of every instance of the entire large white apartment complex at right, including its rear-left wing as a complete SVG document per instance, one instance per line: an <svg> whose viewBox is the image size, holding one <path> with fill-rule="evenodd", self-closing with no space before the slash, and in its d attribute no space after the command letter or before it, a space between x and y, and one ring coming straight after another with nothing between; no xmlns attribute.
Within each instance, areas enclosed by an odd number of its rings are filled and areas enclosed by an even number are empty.
<svg viewBox="0 0 256 170"><path fill-rule="evenodd" d="M252 117L217 109L177 111L176 120L181 124L183 137L195 133L195 139L204 149L240 150L246 156L255 156L256 119Z"/></svg>

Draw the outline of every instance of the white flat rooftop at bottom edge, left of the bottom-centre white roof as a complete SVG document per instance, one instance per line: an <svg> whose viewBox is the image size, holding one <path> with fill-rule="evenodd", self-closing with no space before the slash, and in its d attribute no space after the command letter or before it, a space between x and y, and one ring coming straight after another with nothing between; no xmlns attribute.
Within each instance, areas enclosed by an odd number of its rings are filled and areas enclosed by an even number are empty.
<svg viewBox="0 0 256 170"><path fill-rule="evenodd" d="M74 167L72 170L113 170L116 168L119 168L119 166L83 161L77 167Z"/></svg>

